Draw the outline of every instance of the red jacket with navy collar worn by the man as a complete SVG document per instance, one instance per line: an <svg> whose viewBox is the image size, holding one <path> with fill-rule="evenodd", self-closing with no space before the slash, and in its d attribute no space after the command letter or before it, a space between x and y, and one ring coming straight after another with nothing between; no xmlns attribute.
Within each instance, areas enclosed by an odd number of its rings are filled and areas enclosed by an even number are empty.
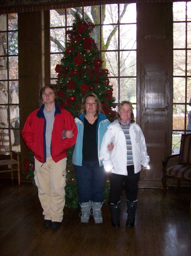
<svg viewBox="0 0 191 256"><path fill-rule="evenodd" d="M34 153L34 157L41 163L46 162L46 122L44 104L33 111L26 119L21 135L24 142ZM73 130L73 138L63 139L63 130ZM55 162L66 157L67 149L76 143L78 129L73 116L55 103L54 124L51 139L51 155Z"/></svg>

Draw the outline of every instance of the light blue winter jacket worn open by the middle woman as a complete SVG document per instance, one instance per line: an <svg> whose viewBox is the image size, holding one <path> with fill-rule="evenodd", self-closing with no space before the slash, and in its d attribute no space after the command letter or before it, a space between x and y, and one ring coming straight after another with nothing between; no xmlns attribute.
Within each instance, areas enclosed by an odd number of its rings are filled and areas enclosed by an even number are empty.
<svg viewBox="0 0 191 256"><path fill-rule="evenodd" d="M74 165L82 166L82 147L83 147L83 134L84 134L84 116L85 113L80 114L75 118L76 126L78 127L78 135L76 139L76 144L72 156L72 162ZM107 130L107 127L110 125L110 121L102 113L98 114L97 121L97 156L100 166L103 165L100 161L100 147L102 144L102 139ZM91 142L90 142L91 143Z"/></svg>

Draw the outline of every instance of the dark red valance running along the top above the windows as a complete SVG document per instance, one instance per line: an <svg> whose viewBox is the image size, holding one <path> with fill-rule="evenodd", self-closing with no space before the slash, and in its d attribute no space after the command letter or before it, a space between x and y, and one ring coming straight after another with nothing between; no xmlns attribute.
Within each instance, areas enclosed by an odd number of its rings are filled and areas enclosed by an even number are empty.
<svg viewBox="0 0 191 256"><path fill-rule="evenodd" d="M92 5L104 5L111 3L162 3L162 2L186 2L186 0L0 0L0 14L34 12L52 9L72 7L84 7Z"/></svg>

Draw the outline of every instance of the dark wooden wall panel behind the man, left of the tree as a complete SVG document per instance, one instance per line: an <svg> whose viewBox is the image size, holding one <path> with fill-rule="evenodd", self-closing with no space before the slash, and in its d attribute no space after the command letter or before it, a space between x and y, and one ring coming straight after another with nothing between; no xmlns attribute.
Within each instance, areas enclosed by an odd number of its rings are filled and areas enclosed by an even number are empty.
<svg viewBox="0 0 191 256"><path fill-rule="evenodd" d="M18 13L18 68L20 127L27 116L39 108L39 91L45 83L43 12ZM29 150L21 138L21 177Z"/></svg>

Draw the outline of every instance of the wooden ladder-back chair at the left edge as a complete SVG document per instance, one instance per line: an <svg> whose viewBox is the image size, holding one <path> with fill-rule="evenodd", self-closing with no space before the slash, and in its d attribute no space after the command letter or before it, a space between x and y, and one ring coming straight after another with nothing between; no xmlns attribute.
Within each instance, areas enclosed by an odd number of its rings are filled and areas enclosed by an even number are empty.
<svg viewBox="0 0 191 256"><path fill-rule="evenodd" d="M18 183L20 185L20 162L19 152L11 148L11 131L0 130L0 173L11 172L11 179L13 180L13 172L18 173Z"/></svg>

